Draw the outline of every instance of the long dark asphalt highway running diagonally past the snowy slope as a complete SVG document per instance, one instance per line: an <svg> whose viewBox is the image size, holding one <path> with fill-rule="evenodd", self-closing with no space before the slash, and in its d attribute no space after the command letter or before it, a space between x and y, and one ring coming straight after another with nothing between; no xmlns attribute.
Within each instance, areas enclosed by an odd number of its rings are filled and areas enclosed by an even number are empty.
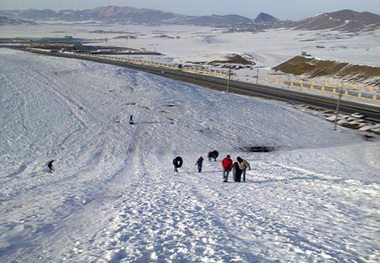
<svg viewBox="0 0 380 263"><path fill-rule="evenodd" d="M25 50L25 49L22 49L22 50ZM28 51L28 50L25 50L25 51ZM180 69L173 70L173 69L167 69L167 68L138 65L138 64L128 63L124 61L108 60L108 59L104 59L100 57L83 56L83 55L81 56L81 55L68 54L68 53L50 53L50 52L35 52L35 51L33 52L43 54L43 55L49 55L49 56L67 57L67 58L89 60L89 61L94 61L98 63L116 65L120 67L125 67L129 69L134 69L138 71L144 71L151 74L160 75L165 78L170 78L174 80L196 84L199 86L203 86L203 87L207 87L207 88L211 88L211 89L215 89L219 91L226 91L227 89L227 79L189 73L186 71L182 71ZM242 95L248 95L248 96L254 96L254 97L261 97L261 98L266 98L266 99L280 100L280 101L285 101L285 102L293 103L293 104L303 104L303 105L308 105L315 108L322 108L322 109L331 110L331 111L336 110L337 100L338 100L338 96L336 96L336 98L330 98L330 97L325 97L325 96L312 95L310 93L305 93L305 92L297 92L297 91L292 91L289 89L276 88L276 87L271 87L271 86L266 86L266 85L261 85L261 84L246 83L246 82L240 82L240 81L235 81L235 80L229 81L229 92L242 94ZM372 104L341 100L339 109L340 109L339 110L340 113L351 114L354 112L359 112L363 114L364 116L366 116L365 117L366 120L373 121L373 122L380 122L380 105L377 106L377 105L372 105Z"/></svg>

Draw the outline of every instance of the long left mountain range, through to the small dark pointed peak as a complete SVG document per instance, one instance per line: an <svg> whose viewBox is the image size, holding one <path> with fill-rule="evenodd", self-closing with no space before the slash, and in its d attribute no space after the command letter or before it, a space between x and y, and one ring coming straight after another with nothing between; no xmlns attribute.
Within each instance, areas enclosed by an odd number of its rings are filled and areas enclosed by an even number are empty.
<svg viewBox="0 0 380 263"><path fill-rule="evenodd" d="M13 19L31 19L35 21L56 20L56 21L103 21L121 22L130 24L186 24L202 25L227 28L246 28L251 26L254 21L239 15L211 15L211 16L186 16L170 12L162 12L153 9L143 9L134 7L106 6L86 10L65 9L54 11L44 10L0 10L0 15L8 16ZM260 24L275 23L278 19L268 14L260 14L256 18Z"/></svg>

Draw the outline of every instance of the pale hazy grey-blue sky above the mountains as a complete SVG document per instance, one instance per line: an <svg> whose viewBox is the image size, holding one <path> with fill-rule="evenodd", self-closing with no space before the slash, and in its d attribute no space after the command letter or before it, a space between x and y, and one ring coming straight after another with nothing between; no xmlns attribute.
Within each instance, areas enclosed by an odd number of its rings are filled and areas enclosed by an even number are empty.
<svg viewBox="0 0 380 263"><path fill-rule="evenodd" d="M342 9L380 14L380 0L0 0L1 10L82 10L109 5L158 9L185 15L237 14L248 18L255 18L264 12L289 20Z"/></svg>

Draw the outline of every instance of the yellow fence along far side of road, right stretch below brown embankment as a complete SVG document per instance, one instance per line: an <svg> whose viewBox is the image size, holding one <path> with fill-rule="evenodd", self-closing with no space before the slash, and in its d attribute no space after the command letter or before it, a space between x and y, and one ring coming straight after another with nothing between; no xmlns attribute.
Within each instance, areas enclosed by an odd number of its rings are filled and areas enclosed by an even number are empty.
<svg viewBox="0 0 380 263"><path fill-rule="evenodd" d="M363 90L359 90L357 85L343 88L342 84L340 84L339 86L333 86L328 83L324 83L324 84L320 84L316 82L309 83L309 82L304 82L303 80L299 80L298 82L282 81L280 77L271 79L270 77L266 76L264 78L264 81L276 82L279 84L283 84L287 86L288 88L292 88L292 89L305 89L305 90L311 90L315 92L324 92L324 93L336 94L336 95L339 95L339 93L341 92L342 96L345 96L345 97L380 102L380 94L375 91L375 88L373 86L367 87L365 91L363 91Z"/></svg>

